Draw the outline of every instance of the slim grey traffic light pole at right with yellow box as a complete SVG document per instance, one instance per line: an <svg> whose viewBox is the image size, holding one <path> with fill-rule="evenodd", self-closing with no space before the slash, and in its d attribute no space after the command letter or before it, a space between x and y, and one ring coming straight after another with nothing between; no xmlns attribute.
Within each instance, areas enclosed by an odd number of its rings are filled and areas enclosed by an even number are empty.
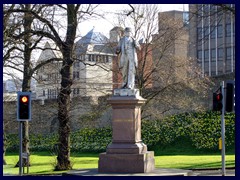
<svg viewBox="0 0 240 180"><path fill-rule="evenodd" d="M222 176L226 176L226 168L225 168L225 85L224 81L222 81L222 95L223 95L223 107L222 107L222 115L221 115L221 137L222 137Z"/></svg>

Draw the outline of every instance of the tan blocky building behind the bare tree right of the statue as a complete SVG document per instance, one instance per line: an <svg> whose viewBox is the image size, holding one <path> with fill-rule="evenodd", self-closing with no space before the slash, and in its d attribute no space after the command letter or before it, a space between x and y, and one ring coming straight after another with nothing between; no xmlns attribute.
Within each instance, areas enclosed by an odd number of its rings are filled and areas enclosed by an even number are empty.
<svg viewBox="0 0 240 180"><path fill-rule="evenodd" d="M157 68L157 73L153 75L154 88L184 80L188 75L187 14L176 10L158 13L158 33L153 36L152 42L153 63Z"/></svg>

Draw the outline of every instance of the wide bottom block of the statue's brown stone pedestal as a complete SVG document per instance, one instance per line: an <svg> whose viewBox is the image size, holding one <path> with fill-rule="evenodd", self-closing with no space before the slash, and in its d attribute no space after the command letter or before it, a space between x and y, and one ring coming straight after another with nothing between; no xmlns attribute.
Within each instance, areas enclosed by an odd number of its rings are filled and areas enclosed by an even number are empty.
<svg viewBox="0 0 240 180"><path fill-rule="evenodd" d="M107 154L101 153L98 172L105 173L146 173L155 168L154 152L144 154Z"/></svg>

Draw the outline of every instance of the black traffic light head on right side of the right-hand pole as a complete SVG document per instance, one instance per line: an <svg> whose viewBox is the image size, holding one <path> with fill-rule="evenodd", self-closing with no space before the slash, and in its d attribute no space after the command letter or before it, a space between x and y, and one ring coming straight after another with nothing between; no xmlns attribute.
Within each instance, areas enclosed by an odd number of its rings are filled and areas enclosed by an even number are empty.
<svg viewBox="0 0 240 180"><path fill-rule="evenodd" d="M234 84L227 83L226 85L226 112L232 112L234 107Z"/></svg>

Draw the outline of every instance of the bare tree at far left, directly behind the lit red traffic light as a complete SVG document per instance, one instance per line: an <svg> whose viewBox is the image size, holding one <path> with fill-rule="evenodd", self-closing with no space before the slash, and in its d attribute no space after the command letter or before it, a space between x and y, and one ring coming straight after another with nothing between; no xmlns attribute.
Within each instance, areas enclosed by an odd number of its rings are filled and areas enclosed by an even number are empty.
<svg viewBox="0 0 240 180"><path fill-rule="evenodd" d="M34 73L31 62L32 51L42 37L33 37L30 33L34 17L29 13L30 4L4 6L4 57L3 66L23 73L22 92L31 91L31 78ZM15 9L22 11L17 14ZM16 19L18 21L16 21ZM22 24L22 25L21 25ZM21 32L27 32L21 34ZM23 151L29 153L29 126L23 122ZM18 163L17 165L18 166Z"/></svg>

